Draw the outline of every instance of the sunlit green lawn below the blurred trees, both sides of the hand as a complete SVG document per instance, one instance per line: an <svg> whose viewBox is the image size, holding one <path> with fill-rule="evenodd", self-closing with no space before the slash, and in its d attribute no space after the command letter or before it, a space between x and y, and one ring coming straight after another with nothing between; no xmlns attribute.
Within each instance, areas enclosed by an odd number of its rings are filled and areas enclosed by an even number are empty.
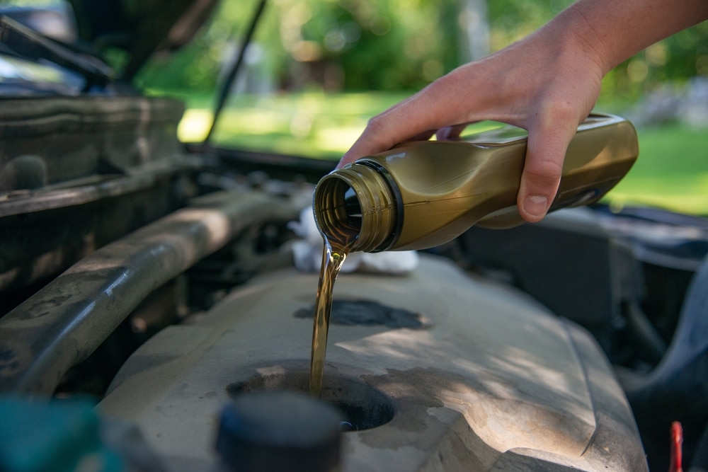
<svg viewBox="0 0 708 472"><path fill-rule="evenodd" d="M224 109L213 140L223 146L337 160L370 117L406 96L239 96ZM198 142L212 122L212 99L188 95L183 98L188 110L179 129L180 138ZM605 202L708 216L708 129L673 124L639 129L638 133L639 159Z"/></svg>

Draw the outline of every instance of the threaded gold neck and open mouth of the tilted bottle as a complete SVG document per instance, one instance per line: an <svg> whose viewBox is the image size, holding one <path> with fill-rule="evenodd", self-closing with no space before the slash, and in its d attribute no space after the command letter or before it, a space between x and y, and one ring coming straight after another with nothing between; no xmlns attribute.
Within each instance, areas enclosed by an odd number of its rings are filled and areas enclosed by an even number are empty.
<svg viewBox="0 0 708 472"><path fill-rule="evenodd" d="M314 192L320 233L343 251L385 251L399 235L399 202L384 174L354 163L325 175Z"/></svg>

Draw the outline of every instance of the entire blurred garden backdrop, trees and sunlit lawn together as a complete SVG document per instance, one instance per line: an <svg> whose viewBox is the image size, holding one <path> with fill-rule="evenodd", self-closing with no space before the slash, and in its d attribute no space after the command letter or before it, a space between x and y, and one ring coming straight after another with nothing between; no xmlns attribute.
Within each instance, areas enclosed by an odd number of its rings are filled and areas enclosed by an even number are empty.
<svg viewBox="0 0 708 472"><path fill-rule="evenodd" d="M457 65L523 38L569 4L271 0L212 141L339 159L372 115ZM212 125L215 91L255 8L256 1L223 1L195 41L154 57L139 75L148 93L185 100L184 141L204 139ZM608 201L708 216L706 90L708 23L649 47L607 75L596 109L629 117L641 149Z"/></svg>

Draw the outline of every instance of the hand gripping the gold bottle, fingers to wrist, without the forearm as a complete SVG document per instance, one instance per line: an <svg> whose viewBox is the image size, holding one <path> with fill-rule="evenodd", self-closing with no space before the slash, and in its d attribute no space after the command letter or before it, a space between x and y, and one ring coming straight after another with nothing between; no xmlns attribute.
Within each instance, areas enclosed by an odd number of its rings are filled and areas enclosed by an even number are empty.
<svg viewBox="0 0 708 472"><path fill-rule="evenodd" d="M592 47L535 33L466 64L373 117L338 167L400 142L457 137L467 123L496 120L527 130L518 192L521 217L539 221L558 188L569 142L600 93L605 73Z"/></svg>

